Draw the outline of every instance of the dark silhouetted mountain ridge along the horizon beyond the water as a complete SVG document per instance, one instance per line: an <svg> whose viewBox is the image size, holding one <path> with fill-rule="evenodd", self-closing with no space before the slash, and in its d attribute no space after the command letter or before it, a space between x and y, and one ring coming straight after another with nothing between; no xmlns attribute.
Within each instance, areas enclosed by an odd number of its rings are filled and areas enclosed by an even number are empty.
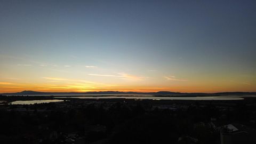
<svg viewBox="0 0 256 144"><path fill-rule="evenodd" d="M218 92L218 93L180 93L180 92L119 92L119 91L98 91L98 92L37 92L22 91L16 93L1 93L1 95L56 95L56 94L152 94L152 95L256 95L256 92Z"/></svg>

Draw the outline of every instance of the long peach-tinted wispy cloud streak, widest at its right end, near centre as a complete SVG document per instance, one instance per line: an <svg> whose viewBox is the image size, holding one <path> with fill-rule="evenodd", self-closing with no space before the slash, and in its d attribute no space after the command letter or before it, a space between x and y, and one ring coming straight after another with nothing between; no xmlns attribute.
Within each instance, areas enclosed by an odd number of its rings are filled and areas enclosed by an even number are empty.
<svg viewBox="0 0 256 144"><path fill-rule="evenodd" d="M126 74L126 73L117 73L117 74L118 75L106 75L106 74L88 74L88 75L90 75L90 76L118 77L118 78L122 78L122 79L133 80L133 81L141 81L142 79L145 79L145 77L130 75L130 74Z"/></svg>

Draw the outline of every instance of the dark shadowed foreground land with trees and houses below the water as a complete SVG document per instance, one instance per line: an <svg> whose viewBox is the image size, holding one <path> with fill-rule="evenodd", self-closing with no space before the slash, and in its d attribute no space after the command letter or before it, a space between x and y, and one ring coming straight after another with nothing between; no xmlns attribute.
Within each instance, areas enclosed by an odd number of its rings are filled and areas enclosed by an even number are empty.
<svg viewBox="0 0 256 144"><path fill-rule="evenodd" d="M0 105L0 143L255 143L256 105L71 100ZM232 129L234 126L236 129ZM231 127L231 128L230 128Z"/></svg>

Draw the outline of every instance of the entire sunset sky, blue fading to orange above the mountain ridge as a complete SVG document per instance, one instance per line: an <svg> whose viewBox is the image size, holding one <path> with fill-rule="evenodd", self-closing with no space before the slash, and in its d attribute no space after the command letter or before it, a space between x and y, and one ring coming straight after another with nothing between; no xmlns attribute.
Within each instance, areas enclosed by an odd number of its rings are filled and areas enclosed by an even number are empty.
<svg viewBox="0 0 256 144"><path fill-rule="evenodd" d="M0 0L0 93L256 91L256 1Z"/></svg>

